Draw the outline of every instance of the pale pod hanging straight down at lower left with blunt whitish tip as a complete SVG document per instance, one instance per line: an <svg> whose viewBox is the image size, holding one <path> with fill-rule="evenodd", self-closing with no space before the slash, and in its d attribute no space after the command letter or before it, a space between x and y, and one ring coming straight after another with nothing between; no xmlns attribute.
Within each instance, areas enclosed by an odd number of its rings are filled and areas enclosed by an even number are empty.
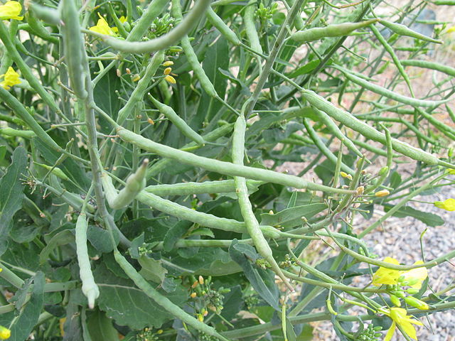
<svg viewBox="0 0 455 341"><path fill-rule="evenodd" d="M76 253L79 264L79 276L82 281L82 293L87 297L88 307L95 308L95 300L100 296L100 289L93 278L90 268L90 259L87 250L87 226L88 221L85 212L80 212L76 222Z"/></svg>

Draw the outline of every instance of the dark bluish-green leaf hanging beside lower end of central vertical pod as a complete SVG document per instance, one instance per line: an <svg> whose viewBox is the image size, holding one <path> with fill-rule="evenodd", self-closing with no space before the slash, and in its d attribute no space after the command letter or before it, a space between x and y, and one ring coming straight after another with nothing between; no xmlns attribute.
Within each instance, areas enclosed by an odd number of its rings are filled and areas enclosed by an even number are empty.
<svg viewBox="0 0 455 341"><path fill-rule="evenodd" d="M240 246L241 249L250 249L248 253L239 251L237 247ZM242 266L243 272L250 281L255 291L261 296L264 301L269 303L275 310L280 310L278 299L279 299L279 290L277 284L274 281L274 273L269 270L258 269L253 266L251 261L248 260L247 254L252 252L256 253L255 249L247 244L239 244L237 239L232 240L232 244L229 247L229 255L231 258Z"/></svg>

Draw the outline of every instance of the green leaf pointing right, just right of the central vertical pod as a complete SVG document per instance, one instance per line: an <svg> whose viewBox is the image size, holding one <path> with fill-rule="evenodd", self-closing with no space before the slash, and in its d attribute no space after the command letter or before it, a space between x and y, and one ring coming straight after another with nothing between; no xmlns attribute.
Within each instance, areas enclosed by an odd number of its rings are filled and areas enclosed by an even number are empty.
<svg viewBox="0 0 455 341"><path fill-rule="evenodd" d="M310 204L296 206L282 210L276 214L263 213L261 215L261 224L270 226L281 226L286 228L296 227L302 224L302 217L309 220L317 213L325 210L326 204Z"/></svg>

